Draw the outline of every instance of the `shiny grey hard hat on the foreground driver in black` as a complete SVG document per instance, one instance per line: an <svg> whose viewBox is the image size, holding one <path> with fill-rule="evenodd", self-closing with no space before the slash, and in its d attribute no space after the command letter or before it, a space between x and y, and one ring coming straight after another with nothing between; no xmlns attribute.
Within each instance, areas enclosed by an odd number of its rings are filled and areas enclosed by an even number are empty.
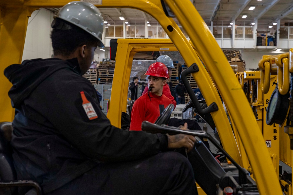
<svg viewBox="0 0 293 195"><path fill-rule="evenodd" d="M99 40L99 47L104 47L102 42L104 30L103 17L98 8L93 4L80 1L69 2L60 9L54 18L65 20L80 27Z"/></svg>

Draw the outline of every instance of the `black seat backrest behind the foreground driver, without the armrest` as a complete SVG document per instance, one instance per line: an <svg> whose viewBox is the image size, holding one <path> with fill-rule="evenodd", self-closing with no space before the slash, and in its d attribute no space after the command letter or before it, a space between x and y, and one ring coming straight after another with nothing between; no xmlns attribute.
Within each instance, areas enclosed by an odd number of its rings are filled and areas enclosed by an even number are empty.
<svg viewBox="0 0 293 195"><path fill-rule="evenodd" d="M12 130L11 122L0 122L0 181L16 180L10 145Z"/></svg>

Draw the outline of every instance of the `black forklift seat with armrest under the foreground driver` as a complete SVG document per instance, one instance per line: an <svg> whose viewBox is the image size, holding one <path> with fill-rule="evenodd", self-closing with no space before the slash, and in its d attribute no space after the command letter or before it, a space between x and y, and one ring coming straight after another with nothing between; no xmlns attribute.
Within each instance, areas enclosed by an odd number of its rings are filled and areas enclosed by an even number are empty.
<svg viewBox="0 0 293 195"><path fill-rule="evenodd" d="M41 194L38 183L31 180L17 181L13 165L12 122L0 122L0 194ZM18 191L17 187L23 187Z"/></svg>

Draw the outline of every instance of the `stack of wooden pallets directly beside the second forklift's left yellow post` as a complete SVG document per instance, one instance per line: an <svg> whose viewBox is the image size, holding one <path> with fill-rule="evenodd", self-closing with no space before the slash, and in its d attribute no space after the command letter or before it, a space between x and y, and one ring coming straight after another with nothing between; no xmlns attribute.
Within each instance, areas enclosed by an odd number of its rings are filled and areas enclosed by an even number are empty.
<svg viewBox="0 0 293 195"><path fill-rule="evenodd" d="M98 84L112 83L115 62L100 62L98 66Z"/></svg>

